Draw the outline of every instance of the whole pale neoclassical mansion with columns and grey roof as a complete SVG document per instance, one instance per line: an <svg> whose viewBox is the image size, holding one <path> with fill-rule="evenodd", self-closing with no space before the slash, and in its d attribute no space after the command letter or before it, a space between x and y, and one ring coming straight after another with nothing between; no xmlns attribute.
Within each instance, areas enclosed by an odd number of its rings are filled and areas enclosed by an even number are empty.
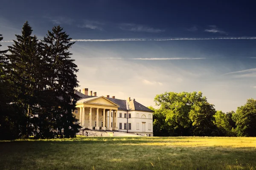
<svg viewBox="0 0 256 170"><path fill-rule="evenodd" d="M88 88L75 91L79 96L74 115L82 128L119 130L153 136L153 112L135 99L116 99L115 96L97 96Z"/></svg>

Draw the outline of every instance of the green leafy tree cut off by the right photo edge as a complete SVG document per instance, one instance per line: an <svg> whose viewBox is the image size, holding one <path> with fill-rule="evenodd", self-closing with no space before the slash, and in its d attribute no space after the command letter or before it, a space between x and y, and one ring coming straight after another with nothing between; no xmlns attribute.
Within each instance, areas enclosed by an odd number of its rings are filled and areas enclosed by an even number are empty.
<svg viewBox="0 0 256 170"><path fill-rule="evenodd" d="M236 122L238 136L256 136L256 100L247 99L245 105L238 107L232 116Z"/></svg>

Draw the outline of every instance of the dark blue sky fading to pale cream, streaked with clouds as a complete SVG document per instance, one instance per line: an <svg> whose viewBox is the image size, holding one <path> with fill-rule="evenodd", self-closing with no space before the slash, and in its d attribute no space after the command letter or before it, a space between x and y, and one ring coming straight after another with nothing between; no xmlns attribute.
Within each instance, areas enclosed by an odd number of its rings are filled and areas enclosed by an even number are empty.
<svg viewBox="0 0 256 170"><path fill-rule="evenodd" d="M29 21L76 43L80 87L154 106L164 92L202 91L216 110L256 98L256 2L0 0L1 50Z"/></svg>

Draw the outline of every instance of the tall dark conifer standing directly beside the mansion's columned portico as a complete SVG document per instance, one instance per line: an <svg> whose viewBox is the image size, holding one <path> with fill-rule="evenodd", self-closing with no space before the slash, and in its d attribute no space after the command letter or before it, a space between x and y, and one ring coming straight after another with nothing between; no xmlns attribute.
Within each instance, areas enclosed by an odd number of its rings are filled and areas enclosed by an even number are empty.
<svg viewBox="0 0 256 170"><path fill-rule="evenodd" d="M52 31L48 31L44 37L45 70L48 70L46 87L52 92L51 104L52 118L55 121L55 129L64 129L64 137L75 137L79 132L79 125L75 125L73 111L76 106L76 96L74 90L78 87L76 72L78 71L74 59L70 59L71 53L68 51L75 42L70 42L72 38L63 31L60 26L55 26Z"/></svg>

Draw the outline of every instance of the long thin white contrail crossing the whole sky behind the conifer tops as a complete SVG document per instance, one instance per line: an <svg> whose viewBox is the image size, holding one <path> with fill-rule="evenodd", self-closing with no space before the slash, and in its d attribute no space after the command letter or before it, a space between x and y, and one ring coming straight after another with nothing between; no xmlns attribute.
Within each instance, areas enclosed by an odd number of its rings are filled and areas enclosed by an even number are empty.
<svg viewBox="0 0 256 170"><path fill-rule="evenodd" d="M166 38L166 39L118 38L118 39L73 39L70 41L111 42L111 41L178 41L178 40L256 40L256 37ZM1 41L1 42L13 42L13 41Z"/></svg>

